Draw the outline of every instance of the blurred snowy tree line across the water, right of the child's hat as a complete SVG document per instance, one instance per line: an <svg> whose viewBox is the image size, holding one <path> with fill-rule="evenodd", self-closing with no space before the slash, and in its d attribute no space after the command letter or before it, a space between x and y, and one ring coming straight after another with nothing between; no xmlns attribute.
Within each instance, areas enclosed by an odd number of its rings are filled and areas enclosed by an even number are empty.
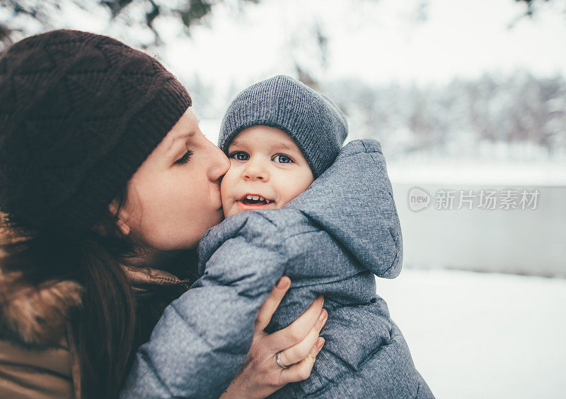
<svg viewBox="0 0 566 399"><path fill-rule="evenodd" d="M447 85L324 85L350 117L353 138L379 138L388 156L566 159L566 80L518 72ZM497 154L504 145L523 148Z"/></svg>

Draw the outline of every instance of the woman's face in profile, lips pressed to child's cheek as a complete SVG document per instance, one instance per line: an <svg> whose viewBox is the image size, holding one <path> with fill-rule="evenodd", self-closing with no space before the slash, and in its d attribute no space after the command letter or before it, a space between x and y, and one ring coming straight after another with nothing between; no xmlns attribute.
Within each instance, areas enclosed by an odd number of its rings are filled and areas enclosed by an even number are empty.
<svg viewBox="0 0 566 399"><path fill-rule="evenodd" d="M149 248L195 248L223 218L219 179L229 165L187 109L129 180L120 229Z"/></svg>

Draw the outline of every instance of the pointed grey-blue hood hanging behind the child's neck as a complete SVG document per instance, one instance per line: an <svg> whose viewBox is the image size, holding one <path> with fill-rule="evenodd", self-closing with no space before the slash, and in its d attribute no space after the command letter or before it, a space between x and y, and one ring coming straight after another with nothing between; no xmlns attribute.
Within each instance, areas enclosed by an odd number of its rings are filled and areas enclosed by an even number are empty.
<svg viewBox="0 0 566 399"><path fill-rule="evenodd" d="M375 275L399 275L403 238L378 141L345 145L333 165L285 208L301 210Z"/></svg>

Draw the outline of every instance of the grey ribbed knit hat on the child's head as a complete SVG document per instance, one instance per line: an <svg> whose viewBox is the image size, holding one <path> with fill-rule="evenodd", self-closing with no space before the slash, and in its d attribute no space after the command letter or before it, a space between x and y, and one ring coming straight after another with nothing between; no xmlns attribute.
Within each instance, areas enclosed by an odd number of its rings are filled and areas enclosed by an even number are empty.
<svg viewBox="0 0 566 399"><path fill-rule="evenodd" d="M332 165L348 133L344 115L328 97L284 75L255 83L236 96L222 119L218 146L227 154L232 139L255 125L289 134L315 179Z"/></svg>

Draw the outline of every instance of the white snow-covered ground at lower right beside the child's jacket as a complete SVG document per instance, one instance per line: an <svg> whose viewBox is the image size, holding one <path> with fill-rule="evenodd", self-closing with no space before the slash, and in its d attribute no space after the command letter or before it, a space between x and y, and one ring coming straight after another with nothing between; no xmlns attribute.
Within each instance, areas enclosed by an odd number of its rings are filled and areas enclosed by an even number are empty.
<svg viewBox="0 0 566 399"><path fill-rule="evenodd" d="M377 292L437 398L565 398L566 280L405 269Z"/></svg>

